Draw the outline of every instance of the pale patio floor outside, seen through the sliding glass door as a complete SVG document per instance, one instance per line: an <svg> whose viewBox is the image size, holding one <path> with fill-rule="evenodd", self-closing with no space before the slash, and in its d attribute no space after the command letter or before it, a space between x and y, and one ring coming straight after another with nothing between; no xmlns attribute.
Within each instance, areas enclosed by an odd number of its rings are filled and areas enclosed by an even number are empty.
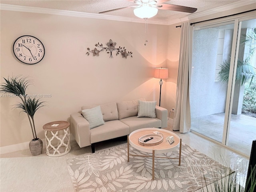
<svg viewBox="0 0 256 192"><path fill-rule="evenodd" d="M191 119L191 130L222 142L225 113ZM228 146L250 156L252 141L256 140L256 118L231 115Z"/></svg>

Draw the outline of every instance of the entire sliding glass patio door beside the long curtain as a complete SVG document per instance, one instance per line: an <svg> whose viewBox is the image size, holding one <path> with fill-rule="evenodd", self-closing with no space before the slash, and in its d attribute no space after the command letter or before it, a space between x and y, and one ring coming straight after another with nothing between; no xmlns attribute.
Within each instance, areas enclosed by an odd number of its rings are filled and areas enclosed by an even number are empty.
<svg viewBox="0 0 256 192"><path fill-rule="evenodd" d="M242 111L244 97L253 92L245 88L254 81L255 56L247 59L253 46L245 36L256 28L254 23L234 20L195 27L190 82L191 130L248 156L256 139L256 118ZM256 102L255 97L247 104Z"/></svg>

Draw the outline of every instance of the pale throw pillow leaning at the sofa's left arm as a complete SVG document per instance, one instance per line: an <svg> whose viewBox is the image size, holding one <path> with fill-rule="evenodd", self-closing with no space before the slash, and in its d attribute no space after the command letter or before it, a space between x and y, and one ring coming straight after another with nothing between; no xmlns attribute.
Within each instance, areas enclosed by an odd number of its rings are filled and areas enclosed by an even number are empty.
<svg viewBox="0 0 256 192"><path fill-rule="evenodd" d="M90 129L105 124L100 106L94 107L92 109L84 109L82 110L82 115L89 122Z"/></svg>

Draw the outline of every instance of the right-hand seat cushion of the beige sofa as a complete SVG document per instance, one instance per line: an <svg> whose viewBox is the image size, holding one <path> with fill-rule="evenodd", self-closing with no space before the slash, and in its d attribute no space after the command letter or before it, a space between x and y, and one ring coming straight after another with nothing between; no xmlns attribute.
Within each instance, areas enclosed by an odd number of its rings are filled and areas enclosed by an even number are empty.
<svg viewBox="0 0 256 192"><path fill-rule="evenodd" d="M124 124L130 127L130 133L141 128L153 128L153 127L160 128L162 126L162 122L158 118L149 118L149 117L137 118L137 116L133 116L133 117L120 119L119 121L123 122Z"/></svg>

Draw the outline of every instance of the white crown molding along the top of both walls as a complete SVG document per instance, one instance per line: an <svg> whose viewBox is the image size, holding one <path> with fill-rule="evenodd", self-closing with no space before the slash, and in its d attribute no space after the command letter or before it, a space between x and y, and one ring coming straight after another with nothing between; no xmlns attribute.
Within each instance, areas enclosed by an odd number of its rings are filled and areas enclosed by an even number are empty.
<svg viewBox="0 0 256 192"><path fill-rule="evenodd" d="M173 19L173 20L172 18L169 18L168 20L156 20L152 18L152 19L148 19L148 24L172 25L172 24L185 22L195 18L208 16L218 12L239 8L241 6L246 6L249 4L255 4L255 1L254 0L238 1L232 4L228 4L228 6L221 6L212 10L190 14L189 16L186 16L184 18ZM56 9L49 9L49 8L38 8L38 7L19 6L19 5L10 5L10 4L0 4L0 10L32 12L32 13L42 13L42 14L55 14L55 15L94 18L94 19L106 19L106 20L125 21L125 22L138 22L138 23L145 22L143 19L140 19L140 18L128 18L128 17L122 17L122 16L112 16L112 15L104 15L104 14L56 10Z"/></svg>

